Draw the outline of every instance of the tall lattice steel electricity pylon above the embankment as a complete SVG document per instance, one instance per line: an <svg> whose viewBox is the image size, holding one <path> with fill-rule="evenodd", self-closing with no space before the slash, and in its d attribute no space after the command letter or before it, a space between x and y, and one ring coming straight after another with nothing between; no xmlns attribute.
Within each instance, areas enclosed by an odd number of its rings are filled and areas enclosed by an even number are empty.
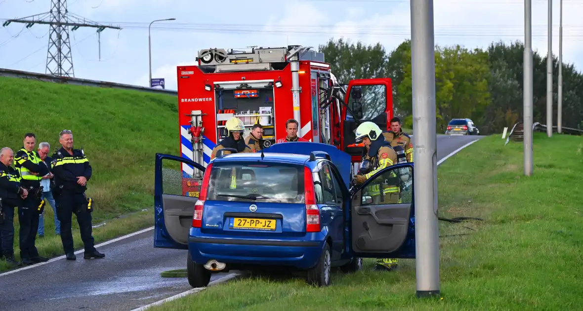
<svg viewBox="0 0 583 311"><path fill-rule="evenodd" d="M27 2L31 2L25 0ZM101 4L100 4L101 5ZM32 27L34 24L49 25L49 40L47 48L47 66L45 73L50 73L56 76L75 76L73 70L73 56L71 54L71 42L69 39L69 27L71 31L75 31L80 27L93 27L97 29L97 33L110 28L119 29L121 27L106 26L85 19L75 13L67 10L66 0L51 0L51 10L49 12L31 15L20 19L6 19L2 24L3 27L10 23L23 23L26 28Z"/></svg>

